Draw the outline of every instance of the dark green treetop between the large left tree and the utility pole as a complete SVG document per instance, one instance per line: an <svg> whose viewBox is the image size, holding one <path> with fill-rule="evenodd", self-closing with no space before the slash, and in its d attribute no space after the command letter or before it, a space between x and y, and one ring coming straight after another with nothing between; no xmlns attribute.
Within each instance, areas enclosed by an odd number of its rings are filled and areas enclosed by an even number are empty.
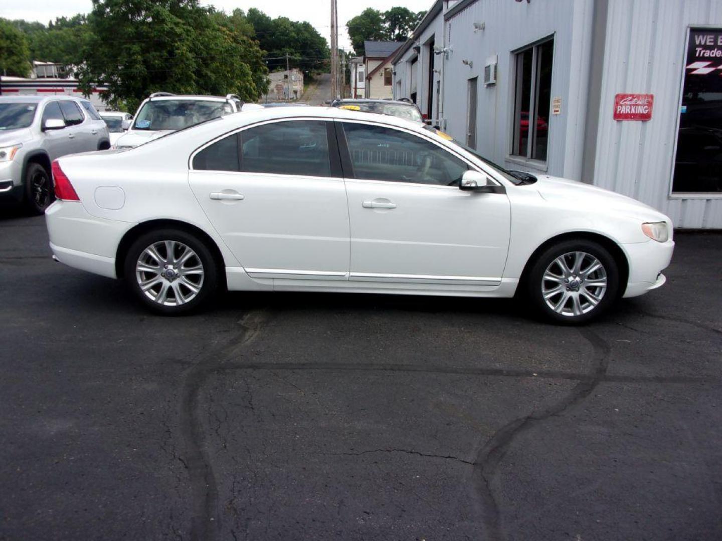
<svg viewBox="0 0 722 541"><path fill-rule="evenodd" d="M323 38L309 22L292 21L288 17L271 19L259 9L251 8L246 15L255 30L256 39L266 51L269 70L286 69L286 59L276 58L290 55L289 66L310 74L326 70L330 51Z"/></svg>

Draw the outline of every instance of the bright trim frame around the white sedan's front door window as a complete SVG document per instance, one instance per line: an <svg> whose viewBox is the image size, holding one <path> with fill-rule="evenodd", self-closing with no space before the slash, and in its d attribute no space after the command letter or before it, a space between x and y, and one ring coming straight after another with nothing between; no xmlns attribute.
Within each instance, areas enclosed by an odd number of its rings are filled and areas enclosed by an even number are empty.
<svg viewBox="0 0 722 541"><path fill-rule="evenodd" d="M434 188L437 190L456 190L458 191L458 186L445 186L441 184L427 184L426 182L401 182L400 180L375 180L375 179L367 179L362 177L357 177L354 172L353 162L351 159L351 153L349 151L349 145L348 141L346 139L346 131L344 130L344 123L349 124L362 124L363 126L378 126L380 128L388 128L391 130L401 131L404 133L408 133L412 136L417 136L421 138L424 141L427 141L429 143L434 144L435 146L438 146L439 149L442 151L446 151L449 154L451 154L453 157L456 157L458 159L461 159L462 162L466 164L466 167L469 167L470 171L477 171L484 173L484 175L487 175L492 182L495 182L497 185L501 186L502 188L505 188L505 184L501 182L497 177L496 172L491 172L489 170L486 170L483 167L479 167L479 165L472 162L470 159L466 158L463 154L456 151L456 149L451 149L448 146L444 146L443 144L440 144L438 141L435 141L433 138L427 136L425 133L419 133L417 131L409 130L408 128L403 128L401 126L393 126L391 124L385 124L382 122L369 122L367 120L352 120L349 118L336 118L335 124L336 124L336 138L338 138L339 141L339 152L341 154L341 164L344 170L344 178L348 180L357 180L360 182L368 182L368 183L382 183L382 184L391 184L396 186L409 186L412 188Z"/></svg>

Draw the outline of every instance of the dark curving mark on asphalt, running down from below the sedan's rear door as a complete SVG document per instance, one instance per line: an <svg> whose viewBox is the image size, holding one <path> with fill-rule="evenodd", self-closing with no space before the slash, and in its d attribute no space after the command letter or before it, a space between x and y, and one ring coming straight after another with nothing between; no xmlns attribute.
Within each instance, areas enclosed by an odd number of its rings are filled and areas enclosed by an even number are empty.
<svg viewBox="0 0 722 541"><path fill-rule="evenodd" d="M238 323L240 330L220 346L212 348L186 371L181 393L180 430L186 446L185 458L179 458L188 470L193 509L191 541L212 541L220 532L218 489L212 460L206 451L206 436L199 412L199 395L210 374L227 360L234 359L241 348L254 340L266 320L263 310L248 312Z"/></svg>

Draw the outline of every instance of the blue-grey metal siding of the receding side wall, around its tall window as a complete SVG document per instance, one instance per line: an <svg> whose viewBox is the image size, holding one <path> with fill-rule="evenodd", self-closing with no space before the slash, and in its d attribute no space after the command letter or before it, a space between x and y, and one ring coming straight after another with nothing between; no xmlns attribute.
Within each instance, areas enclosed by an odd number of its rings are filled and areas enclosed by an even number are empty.
<svg viewBox="0 0 722 541"><path fill-rule="evenodd" d="M554 35L552 96L562 97L562 114L549 119L547 171L550 175L563 175L567 123L573 118L573 110L567 107L570 105L568 89L572 48L573 45L578 46L573 40L584 35L584 32L573 32L574 9L571 0L552 4L480 1L449 19L446 30L453 52L444 65L443 117L447 120L446 131L454 138L465 140L467 81L478 76L477 149L492 161L505 163L514 82L511 51ZM485 29L474 32L474 22L484 22ZM498 58L497 84L484 87L484 64L493 55ZM464 59L472 62L471 68L461 62ZM525 169L516 163L506 163L516 169Z"/></svg>

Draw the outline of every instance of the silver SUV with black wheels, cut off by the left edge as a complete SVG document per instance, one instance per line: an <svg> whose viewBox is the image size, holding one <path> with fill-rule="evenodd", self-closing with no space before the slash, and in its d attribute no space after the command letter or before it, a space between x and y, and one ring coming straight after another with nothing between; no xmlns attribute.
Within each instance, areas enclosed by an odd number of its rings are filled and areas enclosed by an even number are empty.
<svg viewBox="0 0 722 541"><path fill-rule="evenodd" d="M53 201L51 162L110 148L90 101L70 96L0 97L0 201L43 214Z"/></svg>

